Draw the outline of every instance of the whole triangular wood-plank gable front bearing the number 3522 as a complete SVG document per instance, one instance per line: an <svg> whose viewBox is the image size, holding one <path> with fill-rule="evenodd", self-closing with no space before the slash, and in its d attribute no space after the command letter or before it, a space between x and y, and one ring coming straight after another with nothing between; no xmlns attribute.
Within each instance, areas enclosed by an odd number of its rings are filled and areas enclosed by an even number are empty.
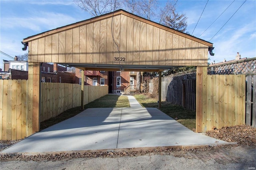
<svg viewBox="0 0 256 170"><path fill-rule="evenodd" d="M119 14L30 39L28 61L207 66L208 45L178 33Z"/></svg>

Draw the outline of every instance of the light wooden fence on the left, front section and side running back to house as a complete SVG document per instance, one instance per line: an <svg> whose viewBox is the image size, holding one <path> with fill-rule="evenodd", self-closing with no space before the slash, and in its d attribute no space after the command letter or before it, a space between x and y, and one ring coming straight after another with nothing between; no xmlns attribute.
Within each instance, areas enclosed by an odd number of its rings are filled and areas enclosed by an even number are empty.
<svg viewBox="0 0 256 170"><path fill-rule="evenodd" d="M84 86L87 104L108 94L108 86ZM28 132L28 80L0 79L0 140L21 139ZM41 83L40 122L81 105L81 86Z"/></svg>

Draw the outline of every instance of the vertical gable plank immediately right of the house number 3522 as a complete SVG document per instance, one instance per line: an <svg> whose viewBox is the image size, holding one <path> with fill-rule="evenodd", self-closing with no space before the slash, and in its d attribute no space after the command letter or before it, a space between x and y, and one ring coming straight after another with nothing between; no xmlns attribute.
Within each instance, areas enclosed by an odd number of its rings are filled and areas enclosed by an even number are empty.
<svg viewBox="0 0 256 170"><path fill-rule="evenodd" d="M127 52L126 64L133 64L133 18L127 17Z"/></svg>

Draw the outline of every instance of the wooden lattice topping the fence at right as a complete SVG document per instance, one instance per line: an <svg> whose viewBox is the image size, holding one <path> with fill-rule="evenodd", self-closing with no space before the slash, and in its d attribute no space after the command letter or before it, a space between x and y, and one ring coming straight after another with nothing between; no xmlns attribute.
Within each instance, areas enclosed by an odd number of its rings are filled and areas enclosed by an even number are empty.
<svg viewBox="0 0 256 170"><path fill-rule="evenodd" d="M223 63L223 65L209 66L208 74L252 74L256 73L256 57L239 63Z"/></svg>

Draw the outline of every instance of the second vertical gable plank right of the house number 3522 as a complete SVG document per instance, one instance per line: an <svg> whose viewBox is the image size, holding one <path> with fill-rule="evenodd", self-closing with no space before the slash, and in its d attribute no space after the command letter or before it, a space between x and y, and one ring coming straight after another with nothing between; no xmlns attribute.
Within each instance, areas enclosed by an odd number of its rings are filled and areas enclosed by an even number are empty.
<svg viewBox="0 0 256 170"><path fill-rule="evenodd" d="M133 22L133 64L140 64L140 21Z"/></svg>

